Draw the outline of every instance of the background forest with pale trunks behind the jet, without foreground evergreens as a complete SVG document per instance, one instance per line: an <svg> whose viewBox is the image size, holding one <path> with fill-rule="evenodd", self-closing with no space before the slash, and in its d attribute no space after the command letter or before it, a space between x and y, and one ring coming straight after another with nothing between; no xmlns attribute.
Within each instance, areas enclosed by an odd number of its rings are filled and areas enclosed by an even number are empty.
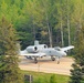
<svg viewBox="0 0 84 83"><path fill-rule="evenodd" d="M65 46L84 27L84 0L0 0L2 17L15 28L22 49L34 40Z"/></svg>

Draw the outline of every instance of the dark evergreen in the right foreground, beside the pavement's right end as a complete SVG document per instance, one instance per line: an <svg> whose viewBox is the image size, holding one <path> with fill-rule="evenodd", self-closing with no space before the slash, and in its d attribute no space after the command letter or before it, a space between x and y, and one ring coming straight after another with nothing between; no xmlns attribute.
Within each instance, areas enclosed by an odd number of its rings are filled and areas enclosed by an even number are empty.
<svg viewBox="0 0 84 83"><path fill-rule="evenodd" d="M75 43L75 63L72 64L71 81L70 83L84 83L84 28L80 28L77 31Z"/></svg>

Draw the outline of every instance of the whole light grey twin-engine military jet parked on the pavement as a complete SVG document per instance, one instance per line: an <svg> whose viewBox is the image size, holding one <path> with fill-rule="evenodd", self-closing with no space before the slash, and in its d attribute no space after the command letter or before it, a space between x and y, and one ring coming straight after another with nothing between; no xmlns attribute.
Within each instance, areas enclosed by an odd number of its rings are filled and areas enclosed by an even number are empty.
<svg viewBox="0 0 84 83"><path fill-rule="evenodd" d="M34 59L35 63L38 63L38 58L51 56L52 61L55 61L55 58L57 58L57 63L60 63L60 59L66 56L66 51L73 48L73 45L48 48L46 44L39 44L39 41L34 41L34 45L29 45L23 51L20 51L20 55L24 55L27 59Z"/></svg>

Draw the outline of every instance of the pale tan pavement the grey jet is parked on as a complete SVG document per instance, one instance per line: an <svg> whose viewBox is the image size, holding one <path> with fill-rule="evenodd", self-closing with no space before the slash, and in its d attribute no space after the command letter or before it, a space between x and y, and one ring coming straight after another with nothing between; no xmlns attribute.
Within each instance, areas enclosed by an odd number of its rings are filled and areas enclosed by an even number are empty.
<svg viewBox="0 0 84 83"><path fill-rule="evenodd" d="M50 58L39 59L35 64L33 60L28 60L24 56L20 58L21 62L19 66L21 70L27 71L36 71L36 72L45 72L45 73L56 73L70 75L70 70L72 69L72 63L74 62L72 58L62 58L60 60L60 64L57 61L51 61Z"/></svg>

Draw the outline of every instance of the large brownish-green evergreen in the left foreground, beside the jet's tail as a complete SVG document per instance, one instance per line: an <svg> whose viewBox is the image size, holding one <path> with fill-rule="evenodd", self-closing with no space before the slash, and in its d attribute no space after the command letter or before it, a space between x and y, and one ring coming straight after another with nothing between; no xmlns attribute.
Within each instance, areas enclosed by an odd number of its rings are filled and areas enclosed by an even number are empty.
<svg viewBox="0 0 84 83"><path fill-rule="evenodd" d="M17 35L13 25L4 18L0 21L0 83L23 83L18 66Z"/></svg>

